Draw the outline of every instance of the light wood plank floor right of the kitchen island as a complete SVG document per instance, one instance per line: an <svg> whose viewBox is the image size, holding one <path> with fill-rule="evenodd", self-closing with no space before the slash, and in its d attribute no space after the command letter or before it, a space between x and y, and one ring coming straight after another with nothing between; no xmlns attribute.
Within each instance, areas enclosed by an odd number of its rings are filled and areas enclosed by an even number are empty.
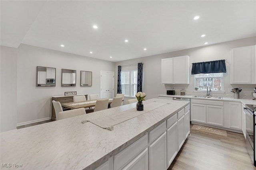
<svg viewBox="0 0 256 170"><path fill-rule="evenodd" d="M256 170L244 136L229 131L227 135L190 129L189 138L168 170Z"/></svg>

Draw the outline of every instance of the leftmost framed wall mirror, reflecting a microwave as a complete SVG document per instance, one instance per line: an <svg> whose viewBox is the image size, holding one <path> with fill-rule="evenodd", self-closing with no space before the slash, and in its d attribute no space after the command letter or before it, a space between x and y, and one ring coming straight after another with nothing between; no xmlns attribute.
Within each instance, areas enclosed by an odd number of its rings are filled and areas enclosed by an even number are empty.
<svg viewBox="0 0 256 170"><path fill-rule="evenodd" d="M36 66L36 86L51 87L56 86L56 68Z"/></svg>

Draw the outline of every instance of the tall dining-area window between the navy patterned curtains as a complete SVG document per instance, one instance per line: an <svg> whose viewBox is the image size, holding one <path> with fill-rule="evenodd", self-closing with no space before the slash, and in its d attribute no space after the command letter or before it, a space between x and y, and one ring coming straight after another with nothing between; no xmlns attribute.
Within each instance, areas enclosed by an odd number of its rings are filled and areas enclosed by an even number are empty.
<svg viewBox="0 0 256 170"><path fill-rule="evenodd" d="M122 94L134 97L137 93L138 70L121 71Z"/></svg>

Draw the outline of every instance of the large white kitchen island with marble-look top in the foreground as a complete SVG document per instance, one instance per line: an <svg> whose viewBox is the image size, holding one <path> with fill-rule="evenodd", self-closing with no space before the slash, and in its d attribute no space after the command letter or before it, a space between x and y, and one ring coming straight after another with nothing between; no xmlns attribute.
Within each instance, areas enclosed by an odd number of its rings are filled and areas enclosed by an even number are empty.
<svg viewBox="0 0 256 170"><path fill-rule="evenodd" d="M146 155L144 160L150 162L152 155L158 156L154 154L154 146L157 146L158 139L164 139L162 144L164 144L165 150L167 142L167 151L163 153L165 158L168 158L168 149L170 150L168 143L177 143L178 146L178 149L176 147L175 155L170 157L169 154L170 159L165 160L165 165L163 166L165 166L164 169L167 169L171 162L170 160L173 160L176 156L189 133L189 129L187 129L189 119L184 121L189 116L189 110L186 109L189 108L189 102L150 99L144 101L143 104L143 113L136 111L136 103L134 103L1 133L2 168L3 164L6 167L10 164L11 169L26 170L106 169L101 168L105 167L102 164L106 164L108 169L127 168L128 165L134 163L134 158L138 158L138 155L141 155L142 152L134 153L136 155L131 155L130 157L129 154L126 154L125 157L130 158L126 162L118 161L118 159L122 158L122 152L127 151L129 147L135 146L136 148L136 143L140 144L140 141L146 140L145 146L141 149L143 154ZM81 123L84 120L95 120L106 115L115 117L120 113L132 112L138 112L140 115L113 125L114 129L112 131L103 129L91 122ZM186 112L188 112L188 116L186 116ZM176 139L173 141L170 140L172 138L168 140L168 130L170 131L171 126L176 127L174 132L177 133ZM178 131L178 127L182 131ZM184 129L187 129L186 133ZM130 150L135 149L130 148ZM147 158L148 160L146 160ZM22 167L15 167L15 164L22 164ZM144 165L147 166L148 163L144 162ZM146 169L150 169L150 166L154 166L154 164L149 165Z"/></svg>

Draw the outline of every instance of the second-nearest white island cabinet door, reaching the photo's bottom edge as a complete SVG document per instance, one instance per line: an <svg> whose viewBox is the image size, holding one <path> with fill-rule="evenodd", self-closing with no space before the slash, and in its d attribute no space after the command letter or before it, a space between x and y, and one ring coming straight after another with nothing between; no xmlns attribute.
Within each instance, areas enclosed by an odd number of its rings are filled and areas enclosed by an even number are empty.
<svg viewBox="0 0 256 170"><path fill-rule="evenodd" d="M166 132L149 145L149 170L166 170Z"/></svg>

